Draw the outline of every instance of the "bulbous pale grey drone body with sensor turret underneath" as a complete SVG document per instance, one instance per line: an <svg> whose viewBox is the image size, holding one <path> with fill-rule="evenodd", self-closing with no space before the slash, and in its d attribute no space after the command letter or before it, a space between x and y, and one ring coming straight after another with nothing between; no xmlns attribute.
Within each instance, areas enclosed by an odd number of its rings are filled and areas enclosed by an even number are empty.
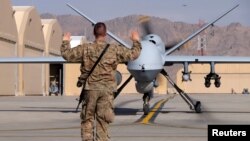
<svg viewBox="0 0 250 141"><path fill-rule="evenodd" d="M140 56L128 62L128 71L136 81L139 93L153 90L156 76L164 67L164 44L160 37L154 34L147 35L141 41L142 51Z"/></svg>

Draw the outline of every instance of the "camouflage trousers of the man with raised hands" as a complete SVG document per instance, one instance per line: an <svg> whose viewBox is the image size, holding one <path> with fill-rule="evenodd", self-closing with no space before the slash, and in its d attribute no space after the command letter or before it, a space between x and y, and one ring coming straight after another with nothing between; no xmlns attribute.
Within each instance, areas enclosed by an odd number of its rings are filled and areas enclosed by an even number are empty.
<svg viewBox="0 0 250 141"><path fill-rule="evenodd" d="M114 120L113 101L111 91L84 91L81 111L82 141L110 140L108 126Z"/></svg>

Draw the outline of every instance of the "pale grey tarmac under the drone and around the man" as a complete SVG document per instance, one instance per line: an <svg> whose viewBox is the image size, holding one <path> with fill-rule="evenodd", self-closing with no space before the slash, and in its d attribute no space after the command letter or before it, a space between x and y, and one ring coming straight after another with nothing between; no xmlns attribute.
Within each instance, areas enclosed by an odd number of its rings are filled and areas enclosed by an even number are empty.
<svg viewBox="0 0 250 141"><path fill-rule="evenodd" d="M112 141L207 141L207 126L249 124L250 95L193 94L202 103L195 113L178 94L154 95L151 112L141 94L115 100ZM1 96L0 141L80 141L76 96Z"/></svg>

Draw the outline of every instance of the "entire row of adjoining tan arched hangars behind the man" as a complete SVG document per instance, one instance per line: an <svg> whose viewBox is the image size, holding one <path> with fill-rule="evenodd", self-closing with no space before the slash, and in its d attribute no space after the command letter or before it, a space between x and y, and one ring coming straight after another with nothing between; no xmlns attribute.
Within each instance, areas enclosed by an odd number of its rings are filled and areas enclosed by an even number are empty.
<svg viewBox="0 0 250 141"><path fill-rule="evenodd" d="M61 27L42 20L33 6L13 6L0 1L1 57L59 56ZM47 95L48 64L0 64L0 95ZM53 67L51 67L53 68ZM61 65L62 68L62 65Z"/></svg>

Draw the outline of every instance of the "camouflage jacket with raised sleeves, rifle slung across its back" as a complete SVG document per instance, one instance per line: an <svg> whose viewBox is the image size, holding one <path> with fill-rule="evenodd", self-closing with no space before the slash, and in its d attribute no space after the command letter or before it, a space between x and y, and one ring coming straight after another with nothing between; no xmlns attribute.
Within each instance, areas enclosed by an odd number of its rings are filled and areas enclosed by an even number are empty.
<svg viewBox="0 0 250 141"><path fill-rule="evenodd" d="M61 46L62 57L69 62L81 63L81 77L86 80L88 73L94 66L98 57L106 47L106 42L86 43L75 48L70 47L69 41L63 41ZM140 42L133 42L133 47L110 44L100 62L87 78L85 90L112 90L116 91L115 82L116 68L119 63L135 60L141 52Z"/></svg>

